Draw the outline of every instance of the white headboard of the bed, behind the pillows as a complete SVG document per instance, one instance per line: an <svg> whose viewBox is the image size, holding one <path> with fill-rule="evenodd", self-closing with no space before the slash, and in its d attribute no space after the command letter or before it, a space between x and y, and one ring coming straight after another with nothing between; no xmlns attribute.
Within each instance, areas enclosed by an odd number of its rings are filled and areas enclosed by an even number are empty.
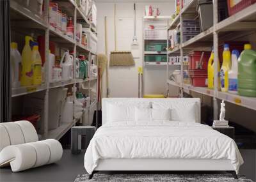
<svg viewBox="0 0 256 182"><path fill-rule="evenodd" d="M152 103L172 103L176 104L191 104L195 103L196 108L196 123L201 123L200 118L200 98L102 98L102 125L107 122L108 116L108 105L120 103L122 105L138 105L140 103L147 103L152 105Z"/></svg>

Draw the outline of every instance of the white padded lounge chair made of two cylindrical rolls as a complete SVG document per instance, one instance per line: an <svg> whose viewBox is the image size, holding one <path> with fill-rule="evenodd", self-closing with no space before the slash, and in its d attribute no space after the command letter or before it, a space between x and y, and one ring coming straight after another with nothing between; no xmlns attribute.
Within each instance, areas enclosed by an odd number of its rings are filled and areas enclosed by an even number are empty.
<svg viewBox="0 0 256 182"><path fill-rule="evenodd" d="M58 140L38 141L29 121L0 123L0 167L11 165L13 172L54 163L61 159Z"/></svg>

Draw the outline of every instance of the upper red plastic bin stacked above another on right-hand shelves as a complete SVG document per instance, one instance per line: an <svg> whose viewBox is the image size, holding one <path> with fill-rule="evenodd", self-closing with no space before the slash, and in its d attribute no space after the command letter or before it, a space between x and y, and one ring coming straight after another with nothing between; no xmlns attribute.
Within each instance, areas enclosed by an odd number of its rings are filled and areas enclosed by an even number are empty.
<svg viewBox="0 0 256 182"><path fill-rule="evenodd" d="M202 51L193 51L189 53L189 70L196 70L200 62ZM202 59L202 70L207 70L208 59L211 56L211 52L204 52Z"/></svg>

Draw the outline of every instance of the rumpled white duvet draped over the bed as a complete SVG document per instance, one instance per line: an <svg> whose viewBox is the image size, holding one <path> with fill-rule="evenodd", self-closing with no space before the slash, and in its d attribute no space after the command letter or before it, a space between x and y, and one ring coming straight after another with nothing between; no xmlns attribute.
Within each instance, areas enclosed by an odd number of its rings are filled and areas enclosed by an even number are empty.
<svg viewBox="0 0 256 182"><path fill-rule="evenodd" d="M177 121L106 123L86 150L86 171L92 174L106 158L229 159L237 173L243 164L230 137L207 125Z"/></svg>

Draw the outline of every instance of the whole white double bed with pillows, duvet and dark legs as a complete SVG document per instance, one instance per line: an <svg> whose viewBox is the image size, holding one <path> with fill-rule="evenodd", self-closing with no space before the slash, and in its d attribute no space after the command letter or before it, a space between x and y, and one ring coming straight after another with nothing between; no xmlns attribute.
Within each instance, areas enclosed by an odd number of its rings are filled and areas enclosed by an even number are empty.
<svg viewBox="0 0 256 182"><path fill-rule="evenodd" d="M122 113L124 107L128 109ZM139 111L134 112L136 119L131 118L133 107L171 109L171 121L163 120L164 114L152 120L153 111L150 120L140 116L138 121ZM92 175L97 171L231 171L236 178L241 164L234 140L200 124L198 98L103 99L102 126L84 155L84 167Z"/></svg>

